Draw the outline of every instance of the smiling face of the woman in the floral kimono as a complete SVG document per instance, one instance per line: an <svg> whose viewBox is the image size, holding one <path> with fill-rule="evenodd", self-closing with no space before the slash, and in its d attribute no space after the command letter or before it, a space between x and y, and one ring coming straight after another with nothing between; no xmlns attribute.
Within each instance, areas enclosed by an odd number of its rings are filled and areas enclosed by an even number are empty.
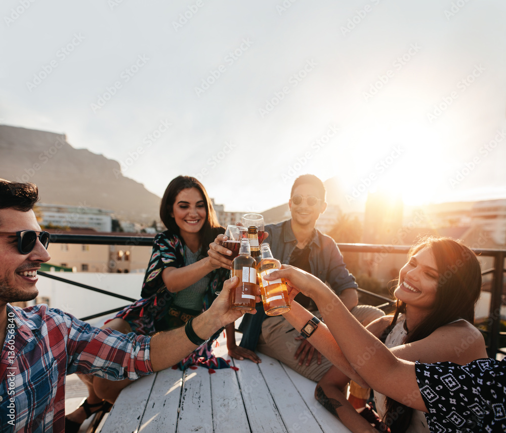
<svg viewBox="0 0 506 433"><path fill-rule="evenodd" d="M183 189L174 201L171 216L176 220L180 234L198 233L207 218L204 198L197 188Z"/></svg>

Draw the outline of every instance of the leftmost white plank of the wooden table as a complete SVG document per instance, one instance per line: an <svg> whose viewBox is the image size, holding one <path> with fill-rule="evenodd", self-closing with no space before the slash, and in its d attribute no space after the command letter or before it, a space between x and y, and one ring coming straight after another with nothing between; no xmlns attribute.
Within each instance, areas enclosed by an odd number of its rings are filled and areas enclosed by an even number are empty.
<svg viewBox="0 0 506 433"><path fill-rule="evenodd" d="M100 432L137 433L155 377L141 377L122 389Z"/></svg>

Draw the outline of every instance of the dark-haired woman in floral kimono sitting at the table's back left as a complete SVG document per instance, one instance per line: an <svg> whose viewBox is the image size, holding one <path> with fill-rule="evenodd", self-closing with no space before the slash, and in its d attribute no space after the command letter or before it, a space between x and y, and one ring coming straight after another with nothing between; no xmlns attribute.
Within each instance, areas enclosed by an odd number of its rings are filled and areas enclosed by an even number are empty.
<svg viewBox="0 0 506 433"><path fill-rule="evenodd" d="M216 291L221 290L228 278L229 271L207 256L209 244L225 230L220 227L207 192L197 179L178 176L168 184L160 205L160 219L167 230L158 233L153 241L141 299L119 311L104 328L125 334L152 335L181 327L209 307ZM210 373L228 368L228 363L212 352L220 332L178 367L200 365ZM255 356L255 353L248 355ZM88 399L66 418L68 431L77 431L85 416L100 410L104 401L113 403L119 391L131 383L128 379L110 381L95 377L89 384L89 380L85 380L90 390Z"/></svg>

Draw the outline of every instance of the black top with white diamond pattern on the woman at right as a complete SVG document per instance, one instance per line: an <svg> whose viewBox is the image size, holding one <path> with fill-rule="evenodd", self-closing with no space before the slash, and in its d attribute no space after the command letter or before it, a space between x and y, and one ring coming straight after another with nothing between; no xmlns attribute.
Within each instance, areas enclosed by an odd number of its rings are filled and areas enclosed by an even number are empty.
<svg viewBox="0 0 506 433"><path fill-rule="evenodd" d="M431 431L506 431L506 358L415 365Z"/></svg>

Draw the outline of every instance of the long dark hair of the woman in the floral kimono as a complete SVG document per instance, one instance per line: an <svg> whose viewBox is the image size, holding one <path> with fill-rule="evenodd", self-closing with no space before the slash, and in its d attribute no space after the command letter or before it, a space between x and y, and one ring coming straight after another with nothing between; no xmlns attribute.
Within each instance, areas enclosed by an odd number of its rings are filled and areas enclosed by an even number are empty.
<svg viewBox="0 0 506 433"><path fill-rule="evenodd" d="M207 250L209 249L209 244L214 241L217 233L219 232L220 223L218 222L218 218L216 217L216 212L213 208L213 204L209 200L209 196L207 195L207 191L204 186L194 177L191 176L178 176L171 180L171 182L167 185L165 192L163 194L163 198L161 199L160 204L160 219L162 220L165 227L172 233L177 234L181 241L184 243L184 240L180 236L179 227L176 224L176 220L171 215L174 208L174 202L176 201L176 196L183 190L188 188L196 188L202 194L202 198L205 204L205 222L202 228L200 229L200 245L202 246L202 255L206 255Z"/></svg>

